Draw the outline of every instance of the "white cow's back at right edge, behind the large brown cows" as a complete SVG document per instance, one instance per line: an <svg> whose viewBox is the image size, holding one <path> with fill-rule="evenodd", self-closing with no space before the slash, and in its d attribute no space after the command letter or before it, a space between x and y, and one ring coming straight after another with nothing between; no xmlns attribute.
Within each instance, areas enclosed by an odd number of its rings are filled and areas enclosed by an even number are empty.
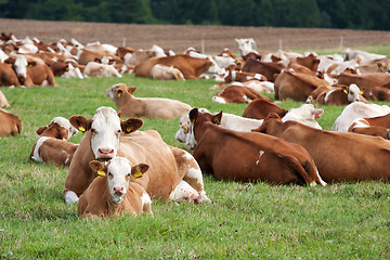
<svg viewBox="0 0 390 260"><path fill-rule="evenodd" d="M348 128L356 118L377 117L390 113L387 105L365 104L353 102L346 106L332 127L332 131L347 132Z"/></svg>

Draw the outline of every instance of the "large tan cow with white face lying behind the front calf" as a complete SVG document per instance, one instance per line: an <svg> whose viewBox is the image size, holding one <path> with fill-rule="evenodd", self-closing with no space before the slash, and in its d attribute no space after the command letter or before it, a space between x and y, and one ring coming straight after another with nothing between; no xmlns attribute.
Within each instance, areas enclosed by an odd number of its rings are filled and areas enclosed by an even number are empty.
<svg viewBox="0 0 390 260"><path fill-rule="evenodd" d="M112 107L99 107L92 118L73 116L70 123L86 132L72 159L65 179L64 198L76 203L95 179L91 160L126 157L131 165L150 166L147 194L152 198L208 202L202 171L193 156L166 144L155 130L136 131L143 125L139 118L121 120Z"/></svg>

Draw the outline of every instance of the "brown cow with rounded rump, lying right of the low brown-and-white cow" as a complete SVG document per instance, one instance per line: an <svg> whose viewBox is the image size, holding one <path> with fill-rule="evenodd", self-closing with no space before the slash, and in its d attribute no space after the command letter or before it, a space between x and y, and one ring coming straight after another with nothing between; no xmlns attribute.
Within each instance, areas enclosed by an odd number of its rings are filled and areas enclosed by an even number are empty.
<svg viewBox="0 0 390 260"><path fill-rule="evenodd" d="M294 69L281 73L274 84L275 99L304 102L313 90L320 86L330 86L326 80L315 76L296 73Z"/></svg>

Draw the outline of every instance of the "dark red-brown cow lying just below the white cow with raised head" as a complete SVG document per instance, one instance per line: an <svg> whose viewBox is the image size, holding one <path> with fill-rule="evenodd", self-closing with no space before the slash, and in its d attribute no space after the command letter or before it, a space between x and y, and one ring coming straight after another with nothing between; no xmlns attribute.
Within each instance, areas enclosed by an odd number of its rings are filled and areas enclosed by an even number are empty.
<svg viewBox="0 0 390 260"><path fill-rule="evenodd" d="M263 75L269 81L275 82L276 76L285 68L283 64L260 62L249 58L245 62L243 72L255 73Z"/></svg>

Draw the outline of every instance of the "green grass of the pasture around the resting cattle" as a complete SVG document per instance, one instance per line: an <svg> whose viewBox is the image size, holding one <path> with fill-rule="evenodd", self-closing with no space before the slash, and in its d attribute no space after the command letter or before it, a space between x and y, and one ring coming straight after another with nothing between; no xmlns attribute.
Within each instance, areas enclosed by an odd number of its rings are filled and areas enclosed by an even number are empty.
<svg viewBox="0 0 390 260"><path fill-rule="evenodd" d="M35 131L55 116L90 117L110 86L136 86L136 96L181 100L242 115L246 104L211 102L213 81L62 79L57 87L1 90L23 133L0 139L0 258L10 259L389 259L390 187L379 182L326 187L218 182L205 176L210 204L155 200L154 216L80 220L64 203L67 169L28 161ZM284 101L284 108L301 103ZM329 130L343 107L322 106ZM178 119L144 119L171 145ZM78 143L82 133L70 139ZM315 141L315 140L313 140ZM342 164L342 155L340 155Z"/></svg>

